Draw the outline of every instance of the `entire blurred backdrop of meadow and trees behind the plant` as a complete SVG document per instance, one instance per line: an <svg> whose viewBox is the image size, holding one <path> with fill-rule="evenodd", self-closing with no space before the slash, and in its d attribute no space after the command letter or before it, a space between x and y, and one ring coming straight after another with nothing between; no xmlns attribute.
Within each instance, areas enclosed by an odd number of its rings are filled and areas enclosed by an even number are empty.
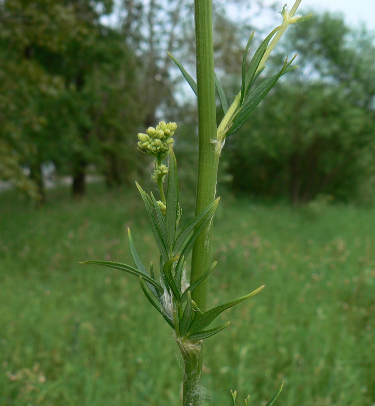
<svg viewBox="0 0 375 406"><path fill-rule="evenodd" d="M229 103L251 32L252 56L283 5L214 1ZM196 99L167 56L194 76L191 10L0 1L0 406L181 404L178 349L137 278L78 263L132 264L127 227L158 263L134 181L152 187L136 135L160 120L178 124L181 226L193 217ZM299 68L223 150L208 307L266 287L208 338L207 405L236 389L264 406L285 380L277 405L375 406L375 33L312 11L258 83L286 55Z"/></svg>

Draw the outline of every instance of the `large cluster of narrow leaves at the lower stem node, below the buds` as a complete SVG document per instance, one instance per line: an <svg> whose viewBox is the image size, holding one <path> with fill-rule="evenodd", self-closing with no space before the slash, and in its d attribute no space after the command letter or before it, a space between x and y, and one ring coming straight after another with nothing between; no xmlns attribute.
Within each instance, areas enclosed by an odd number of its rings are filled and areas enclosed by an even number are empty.
<svg viewBox="0 0 375 406"><path fill-rule="evenodd" d="M227 327L229 322L209 330L206 330L206 328L222 312L263 289L263 286L261 286L246 296L206 312L200 311L191 298L191 293L213 271L216 262L200 278L186 287L186 258L193 248L196 239L215 214L220 198L209 204L205 210L181 231L178 230L182 210L179 205L177 163L171 147L169 151L166 214L164 215L161 212L160 206L152 192L147 194L138 183L136 185L145 204L152 233L160 252L160 281L156 280L152 263L150 264L149 272L147 272L135 248L129 229L129 248L135 267L117 262L96 260L86 261L83 264L103 265L139 276L141 288L146 298L164 317L170 327L175 330L177 337L184 340L197 341L218 333Z"/></svg>

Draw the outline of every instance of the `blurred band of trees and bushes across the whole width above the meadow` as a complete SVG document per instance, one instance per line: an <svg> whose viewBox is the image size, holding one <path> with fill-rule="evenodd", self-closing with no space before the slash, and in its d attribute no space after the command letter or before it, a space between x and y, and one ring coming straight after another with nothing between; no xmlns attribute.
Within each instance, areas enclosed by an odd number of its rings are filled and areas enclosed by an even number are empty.
<svg viewBox="0 0 375 406"><path fill-rule="evenodd" d="M114 6L112 0L0 4L0 179L40 202L46 162L73 178L76 195L85 192L90 164L109 187L151 171L135 151L135 134L159 116L178 122L181 183L195 188L195 99L181 99L182 77L167 56L171 51L194 75L191 4ZM241 47L253 27L239 28L226 10L223 2L213 10L214 51L217 74L234 96ZM227 141L219 182L295 204L320 195L373 202L374 37L331 14L315 15L287 37L270 71L291 50L300 68Z"/></svg>

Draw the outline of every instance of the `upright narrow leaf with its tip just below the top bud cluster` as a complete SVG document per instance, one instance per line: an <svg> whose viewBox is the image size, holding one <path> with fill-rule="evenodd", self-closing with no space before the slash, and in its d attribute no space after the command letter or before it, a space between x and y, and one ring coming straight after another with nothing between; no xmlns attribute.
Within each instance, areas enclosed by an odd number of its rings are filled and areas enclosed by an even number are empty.
<svg viewBox="0 0 375 406"><path fill-rule="evenodd" d="M169 171L166 209L166 231L169 254L172 254L174 240L176 237L177 216L178 216L178 177L177 162L173 149L169 147Z"/></svg>

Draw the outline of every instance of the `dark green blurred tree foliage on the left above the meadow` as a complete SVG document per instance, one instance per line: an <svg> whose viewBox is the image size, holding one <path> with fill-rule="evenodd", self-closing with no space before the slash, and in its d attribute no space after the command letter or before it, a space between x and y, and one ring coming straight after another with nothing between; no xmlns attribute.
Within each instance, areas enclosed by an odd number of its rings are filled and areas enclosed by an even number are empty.
<svg viewBox="0 0 375 406"><path fill-rule="evenodd" d="M7 165L0 176L16 180L22 167L29 168L42 199L46 161L73 176L78 194L84 192L88 162L97 164L109 184L131 172L119 167L134 163L125 159L126 140L143 117L138 62L122 35L100 22L112 6L112 1L1 3L1 151L7 161L17 158L12 172ZM30 181L22 184L33 189Z"/></svg>

